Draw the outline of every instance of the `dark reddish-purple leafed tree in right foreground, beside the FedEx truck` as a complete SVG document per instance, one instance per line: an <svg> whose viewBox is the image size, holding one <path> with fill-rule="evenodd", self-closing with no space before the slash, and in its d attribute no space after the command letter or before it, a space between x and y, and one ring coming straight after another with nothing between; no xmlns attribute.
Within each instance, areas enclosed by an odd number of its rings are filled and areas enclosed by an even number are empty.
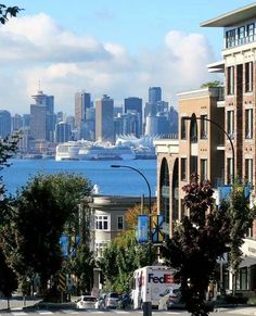
<svg viewBox="0 0 256 316"><path fill-rule="evenodd" d="M208 315L205 293L217 258L228 251L229 218L225 207L215 207L209 181L191 176L183 187L189 216L177 225L174 236L162 247L167 263L176 270L181 296L192 315Z"/></svg>

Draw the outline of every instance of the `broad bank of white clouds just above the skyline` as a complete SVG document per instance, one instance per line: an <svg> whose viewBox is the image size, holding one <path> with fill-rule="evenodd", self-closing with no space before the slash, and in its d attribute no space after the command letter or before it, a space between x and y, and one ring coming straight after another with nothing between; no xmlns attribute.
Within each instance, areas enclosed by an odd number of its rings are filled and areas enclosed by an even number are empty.
<svg viewBox="0 0 256 316"><path fill-rule="evenodd" d="M146 101L149 87L161 86L164 99L172 103L177 92L208 80L206 64L214 60L199 34L170 30L162 47L131 55L120 43L74 34L42 13L11 20L0 27L0 109L12 113L29 112L38 80L55 97L55 109L68 114L80 89L93 99L107 93L120 104L130 96Z"/></svg>

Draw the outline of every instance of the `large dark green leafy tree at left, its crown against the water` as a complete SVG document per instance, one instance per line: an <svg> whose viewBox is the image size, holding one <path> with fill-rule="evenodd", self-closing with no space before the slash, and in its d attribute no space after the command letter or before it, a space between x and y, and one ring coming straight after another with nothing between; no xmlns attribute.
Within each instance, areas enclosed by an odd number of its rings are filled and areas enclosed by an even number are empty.
<svg viewBox="0 0 256 316"><path fill-rule="evenodd" d="M7 214L2 244L24 287L38 274L46 292L47 281L61 269L60 237L67 223L78 222L78 204L89 192L89 182L79 175L38 174L17 193Z"/></svg>

